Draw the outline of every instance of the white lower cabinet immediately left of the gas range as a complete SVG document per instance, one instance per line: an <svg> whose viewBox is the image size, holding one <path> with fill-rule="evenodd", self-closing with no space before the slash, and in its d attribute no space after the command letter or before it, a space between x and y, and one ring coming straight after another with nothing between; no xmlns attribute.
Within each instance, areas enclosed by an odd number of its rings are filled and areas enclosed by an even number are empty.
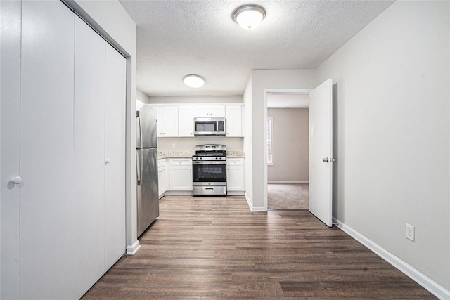
<svg viewBox="0 0 450 300"><path fill-rule="evenodd" d="M192 159L169 159L169 190L192 191Z"/></svg>

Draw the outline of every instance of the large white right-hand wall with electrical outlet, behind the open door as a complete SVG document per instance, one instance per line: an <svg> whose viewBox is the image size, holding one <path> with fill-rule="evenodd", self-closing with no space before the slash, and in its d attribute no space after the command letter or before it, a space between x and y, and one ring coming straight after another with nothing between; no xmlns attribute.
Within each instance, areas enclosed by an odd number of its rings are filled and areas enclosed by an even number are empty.
<svg viewBox="0 0 450 300"><path fill-rule="evenodd" d="M333 215L450 289L449 2L395 2L320 65L316 85L327 78Z"/></svg>

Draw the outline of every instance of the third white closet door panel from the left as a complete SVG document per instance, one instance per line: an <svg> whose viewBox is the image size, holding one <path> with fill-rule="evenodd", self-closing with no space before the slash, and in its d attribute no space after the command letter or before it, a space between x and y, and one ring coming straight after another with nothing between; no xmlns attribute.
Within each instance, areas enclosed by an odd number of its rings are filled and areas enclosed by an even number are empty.
<svg viewBox="0 0 450 300"><path fill-rule="evenodd" d="M105 272L105 41L75 18L74 195L77 288ZM80 295L81 296L81 295Z"/></svg>

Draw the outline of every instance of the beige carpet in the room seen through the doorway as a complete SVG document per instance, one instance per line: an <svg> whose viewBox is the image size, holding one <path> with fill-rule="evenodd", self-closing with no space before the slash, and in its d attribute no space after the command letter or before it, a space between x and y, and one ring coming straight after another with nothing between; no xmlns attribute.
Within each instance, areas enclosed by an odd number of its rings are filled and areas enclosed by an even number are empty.
<svg viewBox="0 0 450 300"><path fill-rule="evenodd" d="M308 209L309 184L267 185L268 209Z"/></svg>

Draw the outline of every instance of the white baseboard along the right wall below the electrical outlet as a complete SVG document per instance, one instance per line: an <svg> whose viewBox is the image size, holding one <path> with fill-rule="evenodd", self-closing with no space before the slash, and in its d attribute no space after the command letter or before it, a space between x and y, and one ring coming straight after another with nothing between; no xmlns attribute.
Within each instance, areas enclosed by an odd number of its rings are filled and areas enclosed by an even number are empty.
<svg viewBox="0 0 450 300"><path fill-rule="evenodd" d="M333 217L333 223L336 224L338 228L340 228L342 231L347 233L347 235L350 235L355 240L360 242L361 244L364 244L368 249L370 249L372 252L380 256L382 259L390 263L395 268L399 269L402 273L404 273L406 276L417 282L419 285L424 287L428 290L428 292L434 294L439 299L450 299L450 291L439 285L434 280L428 278L428 276L421 273L419 270L414 268L413 266L409 265L405 261L402 261L399 259L399 257L395 256L394 254L388 252L386 249L381 247L380 245L376 244L375 242L369 240L364 235L361 235L361 233L358 233L353 228L345 225L345 223L342 223L338 219L335 219Z"/></svg>

